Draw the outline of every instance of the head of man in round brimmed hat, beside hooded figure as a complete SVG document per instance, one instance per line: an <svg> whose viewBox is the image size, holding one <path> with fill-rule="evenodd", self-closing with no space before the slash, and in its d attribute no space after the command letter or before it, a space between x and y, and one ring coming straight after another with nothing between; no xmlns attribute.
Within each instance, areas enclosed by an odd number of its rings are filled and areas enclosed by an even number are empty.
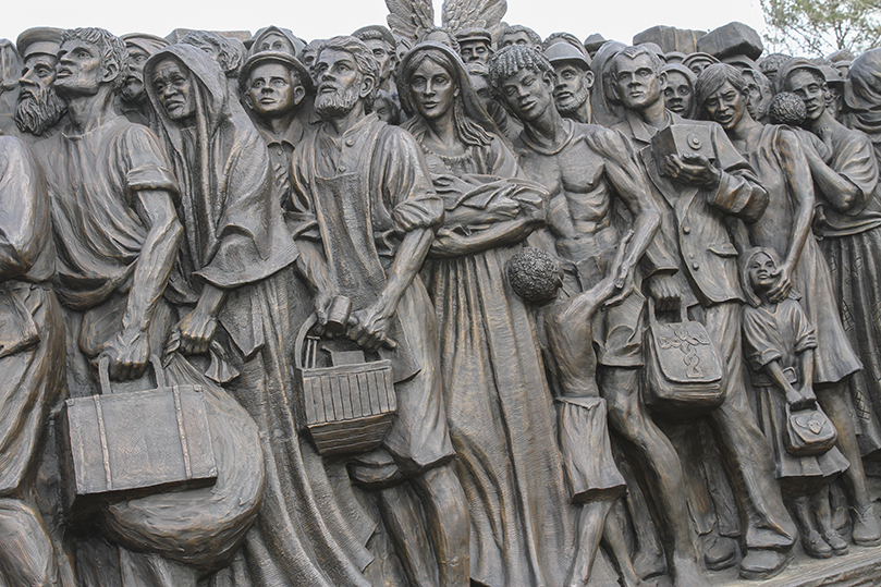
<svg viewBox="0 0 881 587"><path fill-rule="evenodd" d="M291 154L299 144L310 118L313 81L306 68L293 56L262 51L245 61L238 75L238 89L255 126L266 140L276 185L277 201L287 201Z"/></svg>

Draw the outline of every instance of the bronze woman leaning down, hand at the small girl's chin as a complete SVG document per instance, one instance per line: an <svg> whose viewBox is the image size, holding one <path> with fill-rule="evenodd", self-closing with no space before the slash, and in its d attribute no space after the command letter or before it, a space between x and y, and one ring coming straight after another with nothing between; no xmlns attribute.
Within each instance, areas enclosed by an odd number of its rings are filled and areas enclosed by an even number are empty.
<svg viewBox="0 0 881 587"><path fill-rule="evenodd" d="M722 125L768 192L764 213L756 222L746 225L749 241L752 246L774 249L783 259L773 274L775 284L768 292L771 302L780 303L796 291L802 296L802 305L810 323L816 328L818 347L813 356L813 386L822 408L839 430L840 448L851 461L845 476L856 493L859 510L870 502L867 501L866 474L859 451L854 450L857 445L854 421L846 408L845 394L848 379L862 365L847 340L837 313L832 274L811 232L813 183L804 143L787 126L763 125L752 119L747 110L746 80L731 65L708 66L700 74L696 89L701 108L710 120ZM771 428L775 408L771 396L761 395L758 407L762 429L769 439L773 438L775 432ZM778 478L785 481L792 472L784 470L781 463L785 464L785 460L778 460ZM793 496L795 490L787 490ZM796 492L794 497L802 496ZM796 500L795 504L796 517L803 525L802 540L808 554L828 557L830 552L846 552L846 542L829 521L828 499L818 505L821 507L817 516L819 528L811 523L806 500ZM860 518L856 523L864 524Z"/></svg>

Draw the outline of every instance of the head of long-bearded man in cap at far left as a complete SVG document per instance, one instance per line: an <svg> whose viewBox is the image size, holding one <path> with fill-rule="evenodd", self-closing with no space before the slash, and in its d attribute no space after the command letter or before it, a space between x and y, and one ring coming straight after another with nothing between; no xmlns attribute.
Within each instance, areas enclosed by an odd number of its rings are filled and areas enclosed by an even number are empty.
<svg viewBox="0 0 881 587"><path fill-rule="evenodd" d="M53 135L68 110L53 85L61 29L48 26L28 28L19 35L15 46L24 63L19 78L15 125L22 132L22 138L34 143Z"/></svg>

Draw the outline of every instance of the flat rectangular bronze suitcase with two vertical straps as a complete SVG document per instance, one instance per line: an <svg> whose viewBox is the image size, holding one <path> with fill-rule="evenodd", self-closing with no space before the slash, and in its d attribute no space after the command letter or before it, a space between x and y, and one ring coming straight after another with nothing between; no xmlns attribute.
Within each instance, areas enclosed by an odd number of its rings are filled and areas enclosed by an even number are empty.
<svg viewBox="0 0 881 587"><path fill-rule="evenodd" d="M61 418L70 511L215 484L201 387L167 386L152 356L156 389L113 394L109 363L98 363L101 394L68 400Z"/></svg>

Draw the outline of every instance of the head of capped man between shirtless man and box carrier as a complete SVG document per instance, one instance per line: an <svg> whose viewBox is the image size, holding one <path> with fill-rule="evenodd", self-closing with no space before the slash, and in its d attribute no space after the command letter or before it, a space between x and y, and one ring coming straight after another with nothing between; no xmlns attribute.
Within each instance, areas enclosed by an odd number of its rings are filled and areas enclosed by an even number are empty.
<svg viewBox="0 0 881 587"><path fill-rule="evenodd" d="M594 87L594 72L590 62L576 47L568 42L555 42L548 47L544 57L553 65L556 85L553 101L564 118L591 124L590 88Z"/></svg>

